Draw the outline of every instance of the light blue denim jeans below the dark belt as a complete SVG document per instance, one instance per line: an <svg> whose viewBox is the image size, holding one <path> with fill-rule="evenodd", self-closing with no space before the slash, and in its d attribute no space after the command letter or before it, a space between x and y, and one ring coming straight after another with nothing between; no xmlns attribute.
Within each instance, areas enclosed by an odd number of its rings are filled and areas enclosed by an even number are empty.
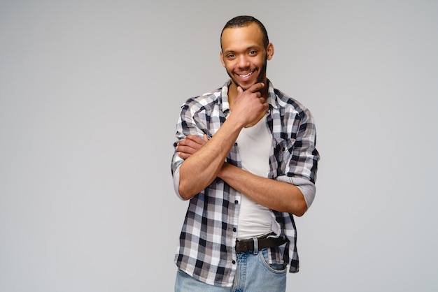
<svg viewBox="0 0 438 292"><path fill-rule="evenodd" d="M269 265L268 249L257 254L237 252L236 277L232 287L211 286L190 277L182 270L176 274L175 292L284 292L287 266Z"/></svg>

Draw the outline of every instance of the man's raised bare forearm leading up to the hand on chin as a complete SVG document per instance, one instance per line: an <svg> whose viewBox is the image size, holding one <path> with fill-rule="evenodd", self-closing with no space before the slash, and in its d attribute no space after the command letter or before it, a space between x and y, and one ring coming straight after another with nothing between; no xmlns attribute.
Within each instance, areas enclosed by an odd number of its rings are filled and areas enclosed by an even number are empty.
<svg viewBox="0 0 438 292"><path fill-rule="evenodd" d="M178 188L182 198L192 198L213 182L241 128L239 123L227 119L209 142L185 159L180 168Z"/></svg>

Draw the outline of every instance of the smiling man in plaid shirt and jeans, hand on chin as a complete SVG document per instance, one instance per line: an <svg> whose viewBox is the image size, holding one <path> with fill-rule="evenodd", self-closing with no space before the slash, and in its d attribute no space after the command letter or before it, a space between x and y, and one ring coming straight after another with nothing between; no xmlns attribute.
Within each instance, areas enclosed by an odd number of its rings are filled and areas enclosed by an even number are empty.
<svg viewBox="0 0 438 292"><path fill-rule="evenodd" d="M175 291L285 291L299 269L293 215L315 196L313 117L274 89L263 24L229 20L220 61L230 80L181 107L171 168L190 200L175 261Z"/></svg>

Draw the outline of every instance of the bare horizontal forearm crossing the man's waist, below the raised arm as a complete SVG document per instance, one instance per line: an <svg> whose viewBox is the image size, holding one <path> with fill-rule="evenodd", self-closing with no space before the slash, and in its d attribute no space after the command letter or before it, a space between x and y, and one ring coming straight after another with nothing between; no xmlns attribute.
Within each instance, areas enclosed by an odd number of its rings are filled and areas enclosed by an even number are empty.
<svg viewBox="0 0 438 292"><path fill-rule="evenodd" d="M218 177L256 203L278 212L302 216L307 205L302 192L293 184L253 175L225 163Z"/></svg>

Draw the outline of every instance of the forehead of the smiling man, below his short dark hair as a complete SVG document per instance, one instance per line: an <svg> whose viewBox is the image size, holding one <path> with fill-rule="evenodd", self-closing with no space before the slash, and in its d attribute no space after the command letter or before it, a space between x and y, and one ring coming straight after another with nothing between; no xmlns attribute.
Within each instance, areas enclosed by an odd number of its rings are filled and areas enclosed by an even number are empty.
<svg viewBox="0 0 438 292"><path fill-rule="evenodd" d="M263 33L257 24L249 24L245 27L230 27L222 32L220 39L222 50L236 50L251 46L263 47Z"/></svg>

